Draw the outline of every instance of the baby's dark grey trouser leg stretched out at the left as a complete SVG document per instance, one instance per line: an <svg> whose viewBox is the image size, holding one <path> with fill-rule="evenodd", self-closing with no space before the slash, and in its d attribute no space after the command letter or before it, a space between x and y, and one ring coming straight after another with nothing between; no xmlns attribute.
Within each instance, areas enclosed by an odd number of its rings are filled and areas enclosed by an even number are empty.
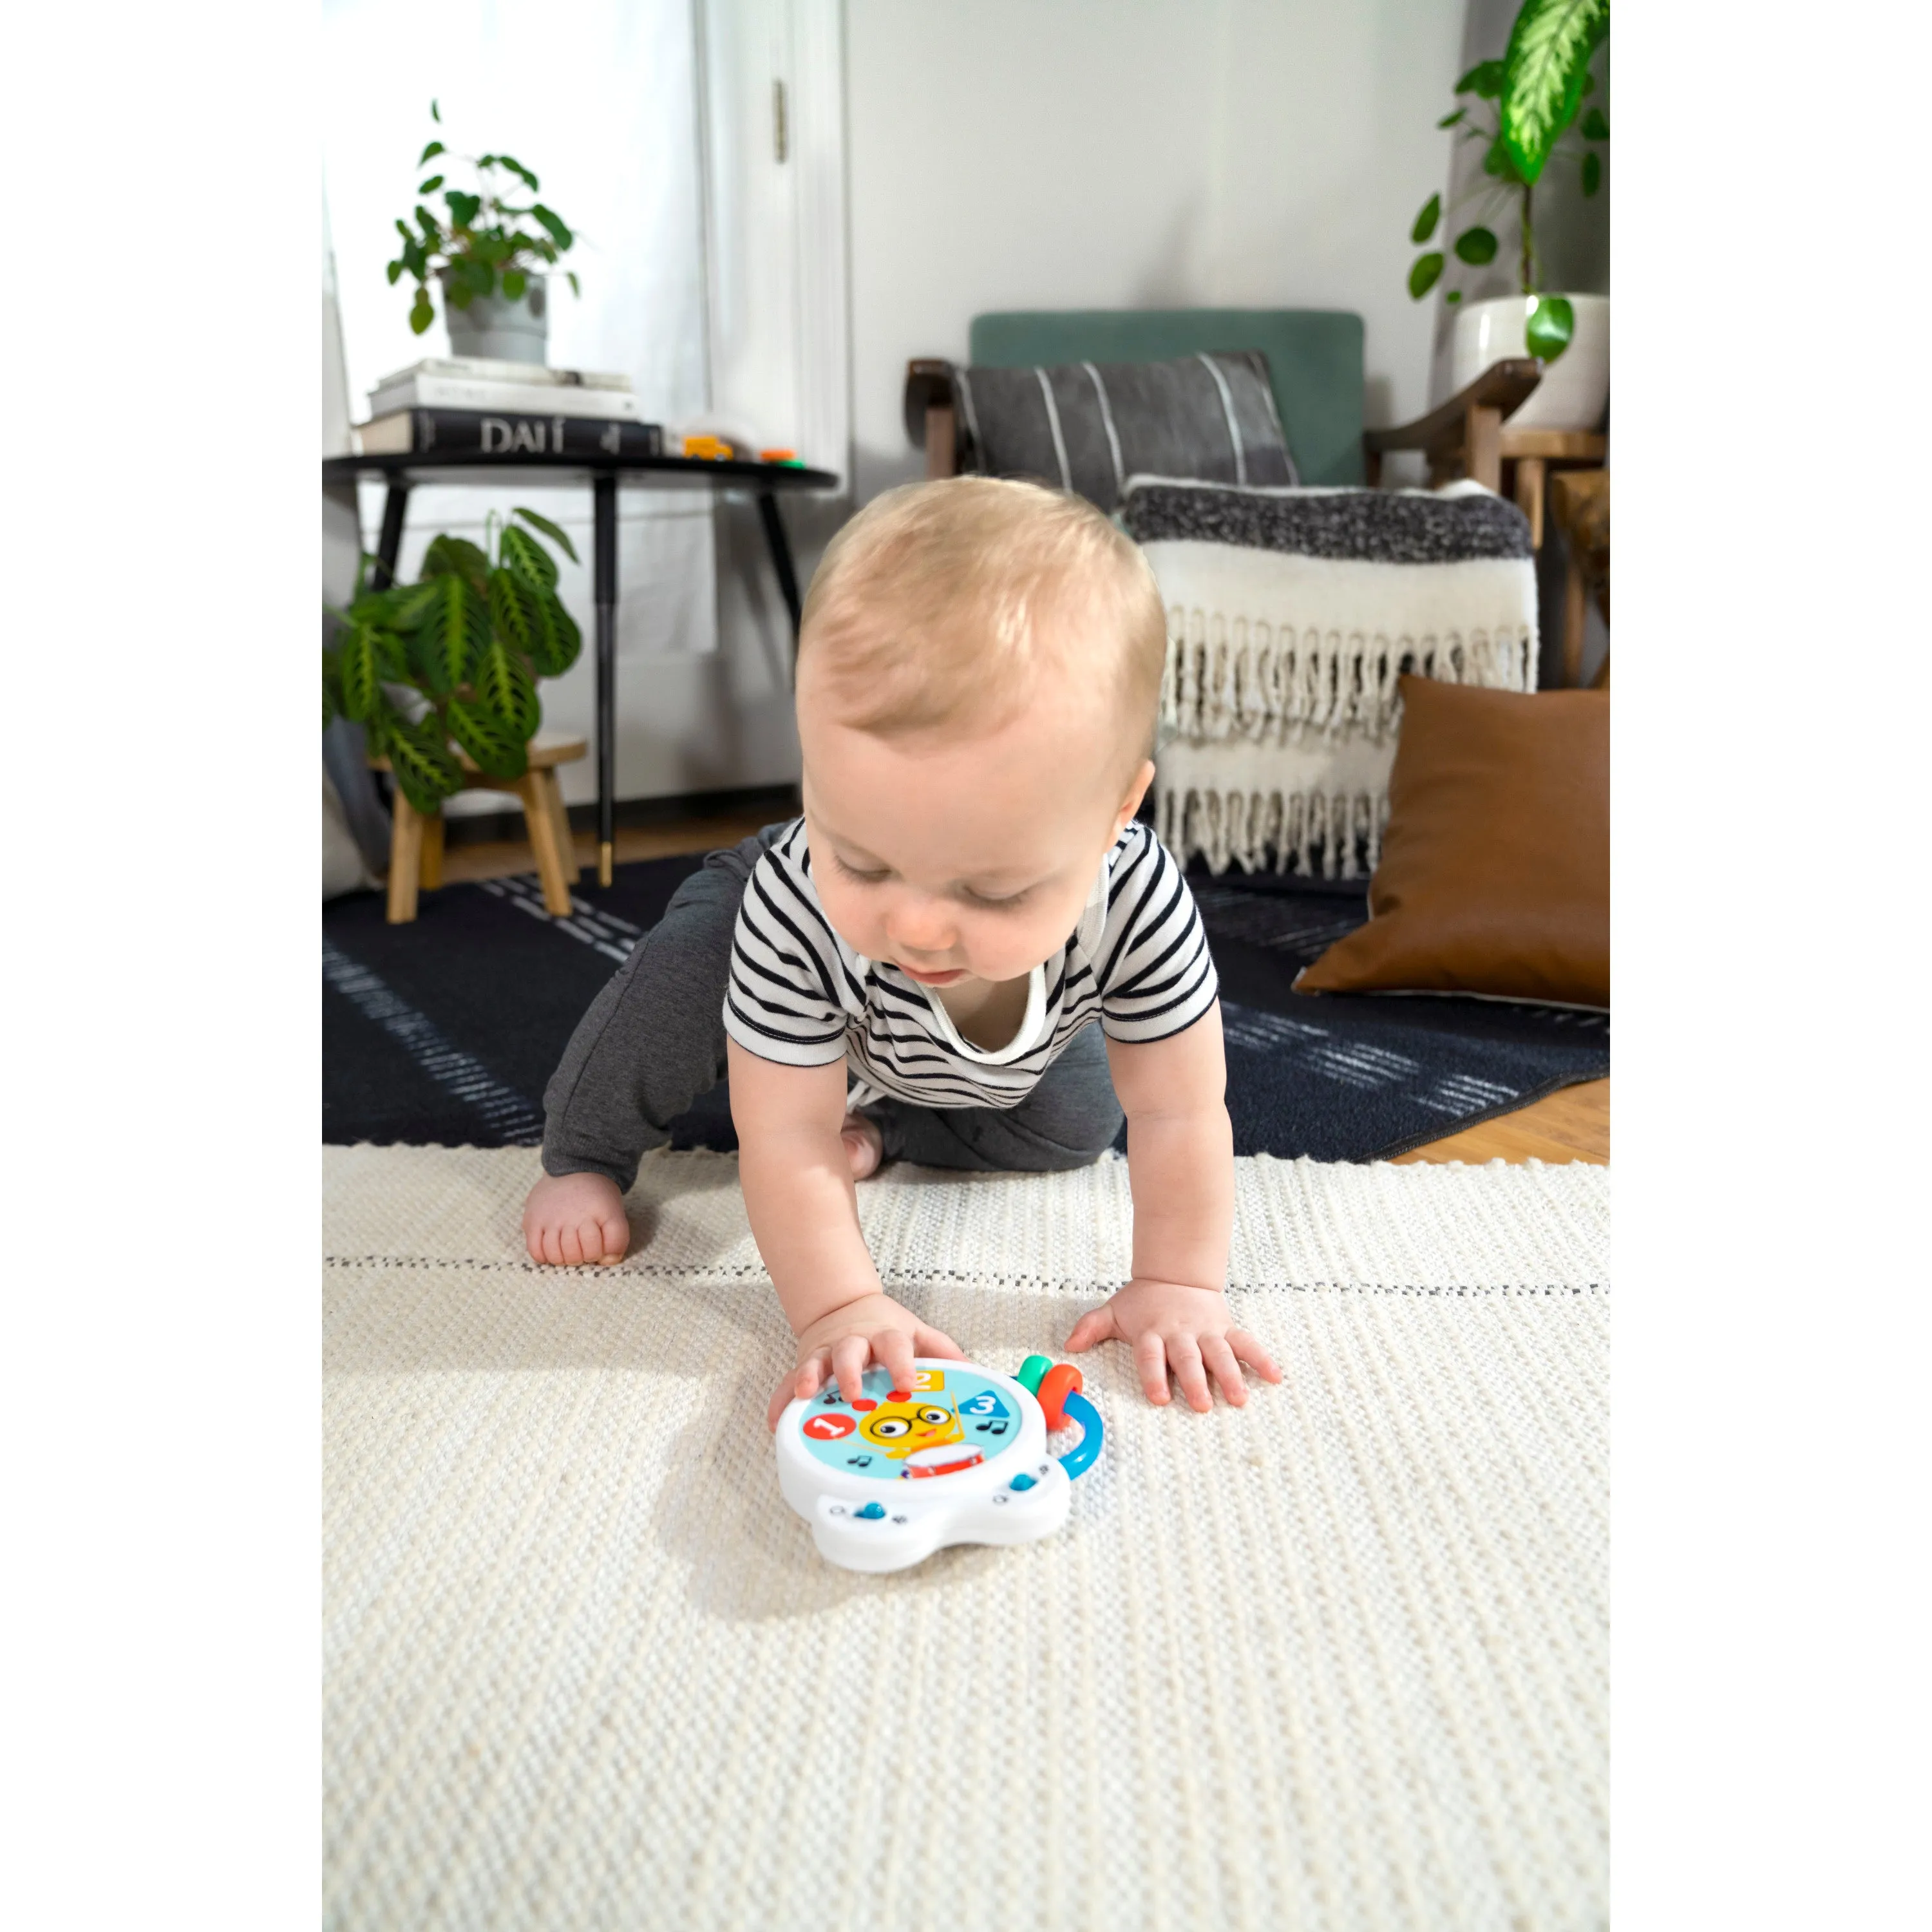
<svg viewBox="0 0 1932 1932"><path fill-rule="evenodd" d="M738 902L759 854L782 833L767 825L713 852L591 1001L543 1094L545 1173L609 1175L630 1188L639 1157L724 1078Z"/></svg>

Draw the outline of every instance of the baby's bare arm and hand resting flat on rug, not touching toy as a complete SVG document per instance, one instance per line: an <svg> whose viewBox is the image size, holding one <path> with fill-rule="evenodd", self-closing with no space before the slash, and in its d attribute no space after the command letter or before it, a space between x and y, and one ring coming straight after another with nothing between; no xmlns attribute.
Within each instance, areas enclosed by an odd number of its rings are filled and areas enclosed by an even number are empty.
<svg viewBox="0 0 1932 1932"><path fill-rule="evenodd" d="M1113 1090L1126 1113L1126 1179L1134 1194L1134 1279L1082 1316L1068 1352L1097 1341L1134 1349L1148 1401L1165 1403L1173 1370L1192 1408L1211 1408L1209 1374L1235 1406L1248 1399L1240 1364L1265 1381L1281 1370L1235 1327L1227 1244L1235 1221L1235 1130L1227 1119L1221 1005L1167 1039L1107 1041Z"/></svg>

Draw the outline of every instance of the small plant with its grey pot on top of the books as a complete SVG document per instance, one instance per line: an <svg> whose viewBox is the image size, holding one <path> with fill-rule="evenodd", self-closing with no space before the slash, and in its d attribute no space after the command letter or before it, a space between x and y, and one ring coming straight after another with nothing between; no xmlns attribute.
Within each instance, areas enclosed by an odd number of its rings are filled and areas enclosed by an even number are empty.
<svg viewBox="0 0 1932 1932"><path fill-rule="evenodd" d="M429 116L440 126L442 110L435 100ZM562 216L535 199L537 176L512 155L452 156L440 141L429 141L415 166L427 168L442 156L468 160L475 191L450 187L440 170L417 184L413 224L396 222L402 249L388 265L390 288L406 274L415 278L410 327L421 334L437 313L429 282L442 284L452 354L541 363L549 336L543 270L556 267L576 236ZM439 189L444 214L425 205ZM524 193L529 201L518 207ZM537 234L524 226L526 220ZM564 270L564 280L574 296L582 294L572 270Z"/></svg>

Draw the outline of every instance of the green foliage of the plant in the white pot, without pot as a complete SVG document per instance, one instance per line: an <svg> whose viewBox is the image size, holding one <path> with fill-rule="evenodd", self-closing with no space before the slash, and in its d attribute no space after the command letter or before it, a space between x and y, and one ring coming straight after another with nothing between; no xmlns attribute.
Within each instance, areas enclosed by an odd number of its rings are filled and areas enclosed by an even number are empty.
<svg viewBox="0 0 1932 1932"><path fill-rule="evenodd" d="M1426 249L1408 269L1408 294L1420 301L1443 278L1451 255L1472 269L1495 261L1501 243L1490 222L1515 205L1517 278L1522 294L1536 298L1524 332L1530 354L1546 363L1569 348L1577 313L1563 296L1540 294L1532 195L1557 155L1577 164L1586 195L1604 185L1609 122L1602 108L1584 112L1580 124L1577 116L1596 89L1590 60L1607 33L1609 0L1522 0L1503 58L1470 68L1455 83L1457 95L1470 100L1435 124L1455 128L1457 141L1484 143L1482 174L1449 209L1441 195L1430 195L1408 230L1408 240ZM1428 247L1457 214L1466 226L1455 242ZM1443 292L1443 301L1461 299L1461 288Z"/></svg>

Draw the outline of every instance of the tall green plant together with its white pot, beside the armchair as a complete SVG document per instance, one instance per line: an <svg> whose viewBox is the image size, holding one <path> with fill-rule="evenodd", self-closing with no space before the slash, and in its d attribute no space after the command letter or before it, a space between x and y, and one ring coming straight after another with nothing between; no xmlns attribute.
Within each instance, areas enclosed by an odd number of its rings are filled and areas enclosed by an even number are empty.
<svg viewBox="0 0 1932 1932"><path fill-rule="evenodd" d="M1536 184L1553 160L1577 166L1584 195L1604 185L1609 122L1584 102L1596 91L1590 60L1607 31L1609 0L1524 0L1509 50L1470 68L1455 91L1472 99L1437 122L1455 128L1457 141L1484 143L1482 174L1449 209L1430 195L1410 228L1410 240L1426 245L1437 226L1447 240L1457 214L1468 220L1447 249L1430 247L1412 263L1408 294L1420 301L1451 255L1470 269L1495 261L1501 243L1492 222L1515 214L1520 294L1461 309L1449 381L1463 388L1492 363L1536 355L1546 375L1511 417L1519 429L1596 429L1609 400L1609 298L1542 288L1532 218ZM1443 292L1447 303L1463 298L1461 288Z"/></svg>

